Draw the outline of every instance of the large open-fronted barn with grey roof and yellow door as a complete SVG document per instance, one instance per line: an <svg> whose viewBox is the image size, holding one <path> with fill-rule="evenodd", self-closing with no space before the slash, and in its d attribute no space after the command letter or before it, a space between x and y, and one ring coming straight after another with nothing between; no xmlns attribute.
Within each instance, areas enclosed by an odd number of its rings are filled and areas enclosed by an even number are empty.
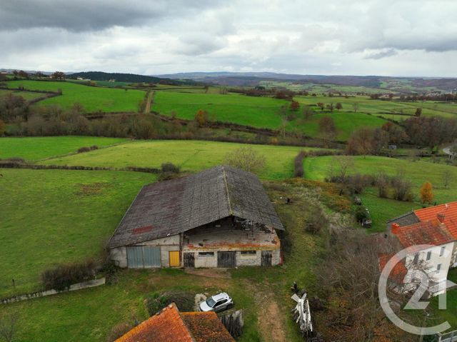
<svg viewBox="0 0 457 342"><path fill-rule="evenodd" d="M109 249L129 268L272 266L283 230L253 173L216 166L144 186Z"/></svg>

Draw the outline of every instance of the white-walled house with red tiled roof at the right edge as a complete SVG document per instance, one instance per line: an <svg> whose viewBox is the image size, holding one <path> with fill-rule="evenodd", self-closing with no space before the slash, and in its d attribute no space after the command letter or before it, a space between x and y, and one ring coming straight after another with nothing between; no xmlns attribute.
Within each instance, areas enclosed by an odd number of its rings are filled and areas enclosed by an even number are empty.
<svg viewBox="0 0 457 342"><path fill-rule="evenodd" d="M457 202L398 216L388 221L387 229L403 248L412 247L413 251L404 261L408 268L405 283L418 277L418 270L412 266L423 264L432 280L428 288L432 295L444 293L446 288L456 285L447 277L448 269L457 266Z"/></svg>

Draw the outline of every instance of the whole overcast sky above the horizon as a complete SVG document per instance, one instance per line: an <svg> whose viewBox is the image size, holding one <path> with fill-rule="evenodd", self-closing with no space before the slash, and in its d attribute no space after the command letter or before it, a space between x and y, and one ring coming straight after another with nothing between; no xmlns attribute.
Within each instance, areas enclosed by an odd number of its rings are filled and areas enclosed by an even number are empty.
<svg viewBox="0 0 457 342"><path fill-rule="evenodd" d="M1 0L0 68L457 76L455 0Z"/></svg>

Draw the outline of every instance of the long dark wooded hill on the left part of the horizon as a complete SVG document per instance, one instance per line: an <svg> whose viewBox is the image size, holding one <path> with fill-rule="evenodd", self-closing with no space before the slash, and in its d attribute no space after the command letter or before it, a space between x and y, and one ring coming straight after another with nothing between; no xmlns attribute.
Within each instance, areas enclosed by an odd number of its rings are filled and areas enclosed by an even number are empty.
<svg viewBox="0 0 457 342"><path fill-rule="evenodd" d="M74 74L69 74L67 78L76 79L81 77L82 79L91 79L92 81L109 81L114 79L118 82L131 82L131 83L160 83L160 84L169 84L173 86L181 85L195 85L199 84L196 81L181 81L176 79L166 79L157 76L145 76L138 74L121 74L121 73L107 73L102 71L83 71L76 72Z"/></svg>

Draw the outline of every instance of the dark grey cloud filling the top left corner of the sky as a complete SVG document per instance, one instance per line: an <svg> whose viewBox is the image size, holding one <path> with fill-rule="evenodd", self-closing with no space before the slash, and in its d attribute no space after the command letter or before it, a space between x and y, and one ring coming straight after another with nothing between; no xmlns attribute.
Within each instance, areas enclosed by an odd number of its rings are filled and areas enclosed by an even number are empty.
<svg viewBox="0 0 457 342"><path fill-rule="evenodd" d="M157 0L2 0L0 29L51 27L99 31L112 26L140 26L168 16L217 6L219 1Z"/></svg>

